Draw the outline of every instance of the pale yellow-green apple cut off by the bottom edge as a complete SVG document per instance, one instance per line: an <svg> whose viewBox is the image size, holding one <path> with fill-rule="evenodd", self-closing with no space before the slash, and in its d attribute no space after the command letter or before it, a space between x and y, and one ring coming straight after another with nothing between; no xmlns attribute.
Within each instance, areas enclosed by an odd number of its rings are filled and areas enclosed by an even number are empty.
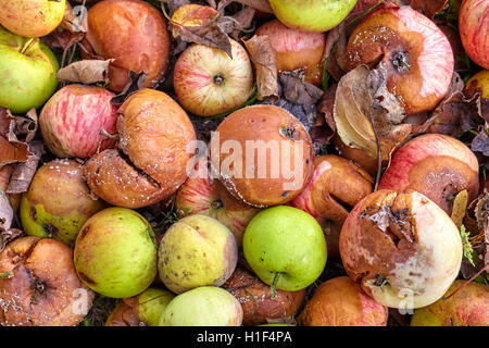
<svg viewBox="0 0 489 348"><path fill-rule="evenodd" d="M239 301L216 286L200 286L177 295L160 319L160 326L241 326L241 323Z"/></svg>

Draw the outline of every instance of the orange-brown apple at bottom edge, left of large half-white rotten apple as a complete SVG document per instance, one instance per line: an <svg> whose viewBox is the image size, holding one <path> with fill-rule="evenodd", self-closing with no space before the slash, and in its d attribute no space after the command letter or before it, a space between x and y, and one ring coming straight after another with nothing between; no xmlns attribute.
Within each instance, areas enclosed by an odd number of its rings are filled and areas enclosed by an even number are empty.
<svg viewBox="0 0 489 348"><path fill-rule="evenodd" d="M298 316L301 326L387 326L388 310L348 276L330 278L314 289Z"/></svg>

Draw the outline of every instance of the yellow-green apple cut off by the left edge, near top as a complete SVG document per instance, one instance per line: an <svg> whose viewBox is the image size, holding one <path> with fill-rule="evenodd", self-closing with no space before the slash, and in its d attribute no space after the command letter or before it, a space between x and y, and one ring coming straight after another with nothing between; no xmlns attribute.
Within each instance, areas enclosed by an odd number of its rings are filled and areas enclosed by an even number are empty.
<svg viewBox="0 0 489 348"><path fill-rule="evenodd" d="M57 58L38 39L28 40L0 27L0 108L13 113L41 107L58 87Z"/></svg>

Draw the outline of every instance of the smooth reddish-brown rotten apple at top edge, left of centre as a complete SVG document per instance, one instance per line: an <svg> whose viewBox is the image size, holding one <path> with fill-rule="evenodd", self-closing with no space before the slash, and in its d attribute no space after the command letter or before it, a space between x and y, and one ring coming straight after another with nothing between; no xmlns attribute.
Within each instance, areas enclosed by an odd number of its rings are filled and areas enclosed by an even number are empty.
<svg viewBox="0 0 489 348"><path fill-rule="evenodd" d="M120 92L128 73L148 74L145 86L161 82L168 66L171 39L163 14L140 0L103 0L88 10L85 57L115 59L109 66L109 88ZM82 50L84 53L84 50Z"/></svg>

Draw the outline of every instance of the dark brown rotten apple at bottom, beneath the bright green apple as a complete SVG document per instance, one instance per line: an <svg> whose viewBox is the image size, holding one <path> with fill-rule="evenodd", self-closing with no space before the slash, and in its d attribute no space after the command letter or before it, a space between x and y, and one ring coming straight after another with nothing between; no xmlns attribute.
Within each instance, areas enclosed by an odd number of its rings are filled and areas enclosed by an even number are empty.
<svg viewBox="0 0 489 348"><path fill-rule="evenodd" d="M241 303L244 326L290 321L305 300L305 289L299 291L277 290L273 296L268 285L239 268L223 287Z"/></svg>

